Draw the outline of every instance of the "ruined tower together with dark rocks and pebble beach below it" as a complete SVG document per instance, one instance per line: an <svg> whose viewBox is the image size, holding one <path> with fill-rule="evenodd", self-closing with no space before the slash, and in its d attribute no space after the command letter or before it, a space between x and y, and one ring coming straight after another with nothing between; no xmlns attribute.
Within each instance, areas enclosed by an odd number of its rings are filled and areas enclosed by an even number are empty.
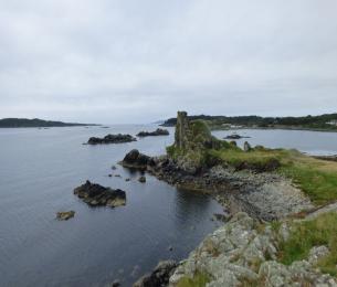
<svg viewBox="0 0 337 287"><path fill-rule="evenodd" d="M203 125L190 123L186 113L179 113L176 140L168 147L168 155L148 157L131 150L119 163L146 170L170 184L209 193L232 212L243 211L265 221L313 208L291 180L273 172L280 166L276 159L263 164L229 166L207 156L207 150L220 150L231 144L212 137Z"/></svg>

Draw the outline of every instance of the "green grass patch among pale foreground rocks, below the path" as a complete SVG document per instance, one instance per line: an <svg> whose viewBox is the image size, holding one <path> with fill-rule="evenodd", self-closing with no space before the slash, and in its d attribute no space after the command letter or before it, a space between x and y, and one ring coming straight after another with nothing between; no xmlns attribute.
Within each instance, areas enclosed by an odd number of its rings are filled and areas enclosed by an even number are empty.
<svg viewBox="0 0 337 287"><path fill-rule="evenodd" d="M289 238L280 246L281 262L289 265L294 261L307 259L310 248L326 245L330 254L322 258L317 266L322 272L337 276L337 213L326 213L315 220L293 224Z"/></svg>

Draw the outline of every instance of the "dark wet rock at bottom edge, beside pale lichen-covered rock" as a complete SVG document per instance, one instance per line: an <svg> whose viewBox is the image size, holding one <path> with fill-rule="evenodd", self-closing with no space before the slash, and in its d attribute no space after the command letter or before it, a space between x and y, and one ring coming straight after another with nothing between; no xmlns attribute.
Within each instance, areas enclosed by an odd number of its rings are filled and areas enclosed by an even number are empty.
<svg viewBox="0 0 337 287"><path fill-rule="evenodd" d="M151 274L147 274L139 278L134 287L165 287L169 283L170 276L173 274L177 263L173 261L160 262Z"/></svg>

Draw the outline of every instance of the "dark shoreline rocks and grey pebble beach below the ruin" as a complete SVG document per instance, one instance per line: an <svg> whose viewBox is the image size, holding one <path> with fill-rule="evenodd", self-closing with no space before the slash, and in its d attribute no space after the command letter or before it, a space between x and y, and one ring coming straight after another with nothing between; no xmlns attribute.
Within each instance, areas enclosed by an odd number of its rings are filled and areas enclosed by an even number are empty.
<svg viewBox="0 0 337 287"><path fill-rule="evenodd" d="M312 202L299 189L273 172L256 173L214 166L191 174L170 157L148 157L138 150L128 152L119 163L147 171L172 185L209 193L232 213L244 211L264 221L313 209Z"/></svg>

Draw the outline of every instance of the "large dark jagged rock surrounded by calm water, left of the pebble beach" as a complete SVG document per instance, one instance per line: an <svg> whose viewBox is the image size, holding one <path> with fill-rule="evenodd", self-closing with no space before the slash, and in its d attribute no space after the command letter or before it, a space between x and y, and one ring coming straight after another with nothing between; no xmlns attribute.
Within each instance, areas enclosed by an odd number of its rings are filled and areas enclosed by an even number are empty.
<svg viewBox="0 0 337 287"><path fill-rule="evenodd" d="M104 188L88 180L74 190L80 199L91 206L109 206L116 208L126 204L126 194L123 190L113 190Z"/></svg>

